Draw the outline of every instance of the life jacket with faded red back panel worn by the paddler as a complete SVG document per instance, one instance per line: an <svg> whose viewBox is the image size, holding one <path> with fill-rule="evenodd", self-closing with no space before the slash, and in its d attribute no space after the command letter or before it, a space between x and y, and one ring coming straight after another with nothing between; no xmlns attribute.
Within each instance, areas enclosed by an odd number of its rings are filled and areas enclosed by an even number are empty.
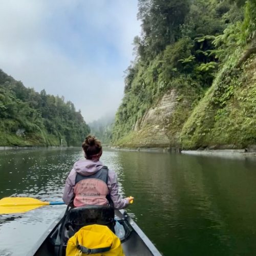
<svg viewBox="0 0 256 256"><path fill-rule="evenodd" d="M109 205L109 169L103 166L97 173L90 176L76 174L74 187L74 206Z"/></svg>

